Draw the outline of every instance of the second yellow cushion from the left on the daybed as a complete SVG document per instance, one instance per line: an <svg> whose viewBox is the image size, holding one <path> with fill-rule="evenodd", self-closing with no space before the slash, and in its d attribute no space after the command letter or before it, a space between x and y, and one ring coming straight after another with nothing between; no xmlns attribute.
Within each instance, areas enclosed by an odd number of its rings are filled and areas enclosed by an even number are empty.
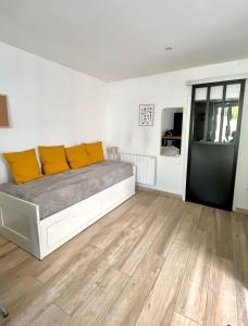
<svg viewBox="0 0 248 326"><path fill-rule="evenodd" d="M38 149L46 175L70 170L64 146L40 146Z"/></svg>

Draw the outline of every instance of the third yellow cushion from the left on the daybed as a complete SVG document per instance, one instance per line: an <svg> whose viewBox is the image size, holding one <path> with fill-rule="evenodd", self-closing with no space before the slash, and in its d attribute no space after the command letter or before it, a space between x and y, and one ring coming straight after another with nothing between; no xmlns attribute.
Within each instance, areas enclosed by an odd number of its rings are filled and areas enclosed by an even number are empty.
<svg viewBox="0 0 248 326"><path fill-rule="evenodd" d="M65 148L65 154L71 168L78 168L90 164L90 160L84 145Z"/></svg>

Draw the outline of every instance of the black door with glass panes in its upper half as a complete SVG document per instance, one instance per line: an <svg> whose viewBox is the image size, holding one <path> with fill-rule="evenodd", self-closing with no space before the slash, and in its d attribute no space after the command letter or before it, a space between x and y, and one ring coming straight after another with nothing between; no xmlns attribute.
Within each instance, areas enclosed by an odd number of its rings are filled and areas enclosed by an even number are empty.
<svg viewBox="0 0 248 326"><path fill-rule="evenodd" d="M245 79L193 86L186 200L232 210Z"/></svg>

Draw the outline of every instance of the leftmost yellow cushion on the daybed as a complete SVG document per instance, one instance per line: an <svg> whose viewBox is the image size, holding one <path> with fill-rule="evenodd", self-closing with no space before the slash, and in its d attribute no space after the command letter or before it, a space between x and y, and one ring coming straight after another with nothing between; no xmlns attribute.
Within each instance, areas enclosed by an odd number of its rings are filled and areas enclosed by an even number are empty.
<svg viewBox="0 0 248 326"><path fill-rule="evenodd" d="M16 184L25 184L41 178L39 164L36 158L35 149L23 152L4 153L13 179Z"/></svg>

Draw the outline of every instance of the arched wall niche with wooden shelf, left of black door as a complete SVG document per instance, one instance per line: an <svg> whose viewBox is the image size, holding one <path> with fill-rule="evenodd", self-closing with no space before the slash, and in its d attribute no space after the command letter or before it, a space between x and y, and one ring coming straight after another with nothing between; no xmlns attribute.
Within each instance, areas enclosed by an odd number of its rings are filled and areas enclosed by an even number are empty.
<svg viewBox="0 0 248 326"><path fill-rule="evenodd" d="M163 109L161 122L160 154L178 158L182 147L183 108Z"/></svg>

